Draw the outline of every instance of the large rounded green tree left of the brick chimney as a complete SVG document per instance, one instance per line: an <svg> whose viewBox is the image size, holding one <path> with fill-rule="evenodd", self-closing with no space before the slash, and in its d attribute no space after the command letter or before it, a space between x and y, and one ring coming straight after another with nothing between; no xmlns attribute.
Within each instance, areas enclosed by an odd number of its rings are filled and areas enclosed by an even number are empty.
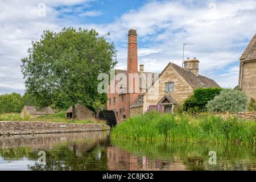
<svg viewBox="0 0 256 182"><path fill-rule="evenodd" d="M93 107L105 98L97 92L97 76L109 74L117 61L114 44L95 30L63 28L44 31L22 63L26 92L41 106L73 106L76 113L76 104Z"/></svg>

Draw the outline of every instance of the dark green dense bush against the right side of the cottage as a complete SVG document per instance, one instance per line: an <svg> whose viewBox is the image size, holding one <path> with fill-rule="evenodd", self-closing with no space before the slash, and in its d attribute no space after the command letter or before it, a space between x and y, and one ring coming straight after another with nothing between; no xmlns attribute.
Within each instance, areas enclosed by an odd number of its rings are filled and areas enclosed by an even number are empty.
<svg viewBox="0 0 256 182"><path fill-rule="evenodd" d="M183 104L186 111L204 111L208 101L220 94L221 88L200 88L195 89L191 97L187 98Z"/></svg>

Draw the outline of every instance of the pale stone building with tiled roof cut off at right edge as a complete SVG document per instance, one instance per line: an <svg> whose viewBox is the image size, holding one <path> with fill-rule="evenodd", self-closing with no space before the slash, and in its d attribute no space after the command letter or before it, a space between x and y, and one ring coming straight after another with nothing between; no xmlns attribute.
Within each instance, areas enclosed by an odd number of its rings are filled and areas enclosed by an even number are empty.
<svg viewBox="0 0 256 182"><path fill-rule="evenodd" d="M256 34L240 57L238 87L256 100Z"/></svg>

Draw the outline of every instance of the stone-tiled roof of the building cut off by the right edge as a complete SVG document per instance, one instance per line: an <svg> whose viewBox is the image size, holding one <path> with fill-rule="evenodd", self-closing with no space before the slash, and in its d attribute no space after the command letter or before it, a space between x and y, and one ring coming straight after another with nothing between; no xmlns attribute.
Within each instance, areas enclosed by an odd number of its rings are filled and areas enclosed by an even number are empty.
<svg viewBox="0 0 256 182"><path fill-rule="evenodd" d="M245 51L243 51L242 56L240 57L240 60L248 61L251 59L255 59L255 56L256 56L255 49L256 49L256 34L251 39Z"/></svg>

